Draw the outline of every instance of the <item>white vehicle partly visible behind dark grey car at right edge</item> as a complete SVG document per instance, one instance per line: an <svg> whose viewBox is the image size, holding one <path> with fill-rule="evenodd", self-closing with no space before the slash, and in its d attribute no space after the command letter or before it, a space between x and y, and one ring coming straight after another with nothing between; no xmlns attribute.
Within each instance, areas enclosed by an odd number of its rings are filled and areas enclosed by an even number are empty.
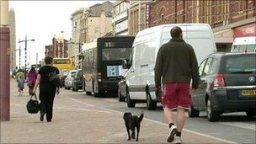
<svg viewBox="0 0 256 144"><path fill-rule="evenodd" d="M256 37L237 37L235 38L231 51L256 51Z"/></svg>

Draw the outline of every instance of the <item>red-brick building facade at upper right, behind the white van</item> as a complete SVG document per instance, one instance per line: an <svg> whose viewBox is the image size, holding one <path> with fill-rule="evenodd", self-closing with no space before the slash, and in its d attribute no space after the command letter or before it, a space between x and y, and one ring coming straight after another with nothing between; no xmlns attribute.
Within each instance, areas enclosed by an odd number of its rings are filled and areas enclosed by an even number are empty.
<svg viewBox="0 0 256 144"><path fill-rule="evenodd" d="M158 24L210 24L218 51L230 51L234 29L255 25L256 1L154 1L150 7L150 26ZM254 27L255 28L255 27Z"/></svg>

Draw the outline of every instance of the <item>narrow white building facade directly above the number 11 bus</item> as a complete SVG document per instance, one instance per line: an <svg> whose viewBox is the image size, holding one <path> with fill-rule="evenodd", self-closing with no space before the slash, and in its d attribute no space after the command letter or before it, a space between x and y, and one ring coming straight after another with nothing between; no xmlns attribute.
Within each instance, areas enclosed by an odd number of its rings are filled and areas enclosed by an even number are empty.
<svg viewBox="0 0 256 144"><path fill-rule="evenodd" d="M113 34L129 35L129 7L130 2L126 0L115 1L113 7Z"/></svg>

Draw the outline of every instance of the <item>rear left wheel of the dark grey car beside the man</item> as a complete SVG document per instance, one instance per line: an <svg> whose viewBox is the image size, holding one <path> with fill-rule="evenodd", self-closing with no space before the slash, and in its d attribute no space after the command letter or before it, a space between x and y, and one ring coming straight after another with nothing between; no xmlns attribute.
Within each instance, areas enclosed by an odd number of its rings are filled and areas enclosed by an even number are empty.
<svg viewBox="0 0 256 144"><path fill-rule="evenodd" d="M211 99L207 99L206 113L211 122L220 120L220 114L212 108Z"/></svg>

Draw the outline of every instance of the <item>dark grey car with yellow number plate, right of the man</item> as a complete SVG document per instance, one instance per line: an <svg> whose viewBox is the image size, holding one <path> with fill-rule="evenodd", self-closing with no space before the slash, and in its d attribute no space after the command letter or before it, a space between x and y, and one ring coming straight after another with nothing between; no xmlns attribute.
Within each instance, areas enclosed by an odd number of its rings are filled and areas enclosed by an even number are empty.
<svg viewBox="0 0 256 144"><path fill-rule="evenodd" d="M256 114L256 53L214 53L199 67L200 85L191 93L189 117L206 110L209 121L222 113Z"/></svg>

